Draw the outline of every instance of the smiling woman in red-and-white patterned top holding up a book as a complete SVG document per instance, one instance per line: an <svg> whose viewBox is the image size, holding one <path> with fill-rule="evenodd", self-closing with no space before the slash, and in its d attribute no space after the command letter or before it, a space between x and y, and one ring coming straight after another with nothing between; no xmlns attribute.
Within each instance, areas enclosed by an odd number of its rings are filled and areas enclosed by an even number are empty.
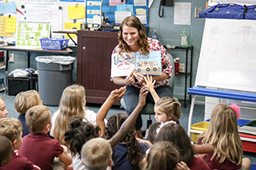
<svg viewBox="0 0 256 170"><path fill-rule="evenodd" d="M168 78L173 75L170 59L166 54L166 49L161 42L153 38L146 37L146 30L140 20L135 16L126 17L119 27L118 42L113 53L139 52L149 55L150 51L160 51L162 61L162 74L153 75L154 89L159 97L173 98L173 89L168 84ZM126 85L124 101L126 103L126 113L130 115L138 104L139 91L145 83L145 75L135 73L134 70L127 77L111 77L116 85ZM150 93L146 97L146 103L154 104L154 99ZM142 138L142 116L138 116L135 124L136 136Z"/></svg>

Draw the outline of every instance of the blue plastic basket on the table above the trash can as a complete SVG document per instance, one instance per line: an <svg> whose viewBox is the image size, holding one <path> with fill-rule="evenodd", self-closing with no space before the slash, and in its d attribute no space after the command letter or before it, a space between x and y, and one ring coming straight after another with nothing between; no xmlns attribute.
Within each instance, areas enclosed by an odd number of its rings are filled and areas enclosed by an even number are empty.
<svg viewBox="0 0 256 170"><path fill-rule="evenodd" d="M40 39L42 49L66 49L70 39L67 38L42 38Z"/></svg>

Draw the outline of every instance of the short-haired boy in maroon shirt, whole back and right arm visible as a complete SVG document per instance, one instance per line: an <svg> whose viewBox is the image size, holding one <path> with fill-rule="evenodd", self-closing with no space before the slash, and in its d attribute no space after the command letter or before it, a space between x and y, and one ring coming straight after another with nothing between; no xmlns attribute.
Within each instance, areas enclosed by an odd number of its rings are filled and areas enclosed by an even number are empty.
<svg viewBox="0 0 256 170"><path fill-rule="evenodd" d="M47 135L51 127L50 109L44 105L30 108L26 112L26 125L30 129L30 134L23 137L19 155L26 156L42 170L50 170L55 156L64 164L72 163L72 158L66 154L58 140Z"/></svg>

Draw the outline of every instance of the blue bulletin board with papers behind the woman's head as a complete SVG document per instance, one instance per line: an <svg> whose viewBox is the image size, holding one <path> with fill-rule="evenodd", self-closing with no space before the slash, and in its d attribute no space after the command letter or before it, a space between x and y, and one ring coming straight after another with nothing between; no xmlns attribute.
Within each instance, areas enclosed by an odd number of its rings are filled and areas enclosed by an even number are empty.
<svg viewBox="0 0 256 170"><path fill-rule="evenodd" d="M120 0L121 1L121 0ZM91 5L90 5L90 2ZM94 18L95 14L98 14L97 10L100 10L100 4L102 2L100 0L90 0L86 2L86 23L88 20ZM148 0L146 0L146 6L134 6L134 0L123 0L124 5L133 5L133 13L132 15L136 15L137 9L146 10L146 24L144 26L149 26L149 8L148 8ZM95 11L95 12L94 12ZM117 6L110 6L110 0L104 0L102 3L102 12L105 13L104 17L108 18L108 23L115 23L114 12L117 11ZM140 15L138 15L139 18Z"/></svg>

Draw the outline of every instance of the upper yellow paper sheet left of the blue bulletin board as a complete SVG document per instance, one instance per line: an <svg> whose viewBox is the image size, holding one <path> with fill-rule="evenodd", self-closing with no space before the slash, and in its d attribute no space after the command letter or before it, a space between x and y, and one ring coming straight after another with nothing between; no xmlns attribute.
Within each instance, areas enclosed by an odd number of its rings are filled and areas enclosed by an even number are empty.
<svg viewBox="0 0 256 170"><path fill-rule="evenodd" d="M85 6L67 6L69 19L86 18Z"/></svg>

